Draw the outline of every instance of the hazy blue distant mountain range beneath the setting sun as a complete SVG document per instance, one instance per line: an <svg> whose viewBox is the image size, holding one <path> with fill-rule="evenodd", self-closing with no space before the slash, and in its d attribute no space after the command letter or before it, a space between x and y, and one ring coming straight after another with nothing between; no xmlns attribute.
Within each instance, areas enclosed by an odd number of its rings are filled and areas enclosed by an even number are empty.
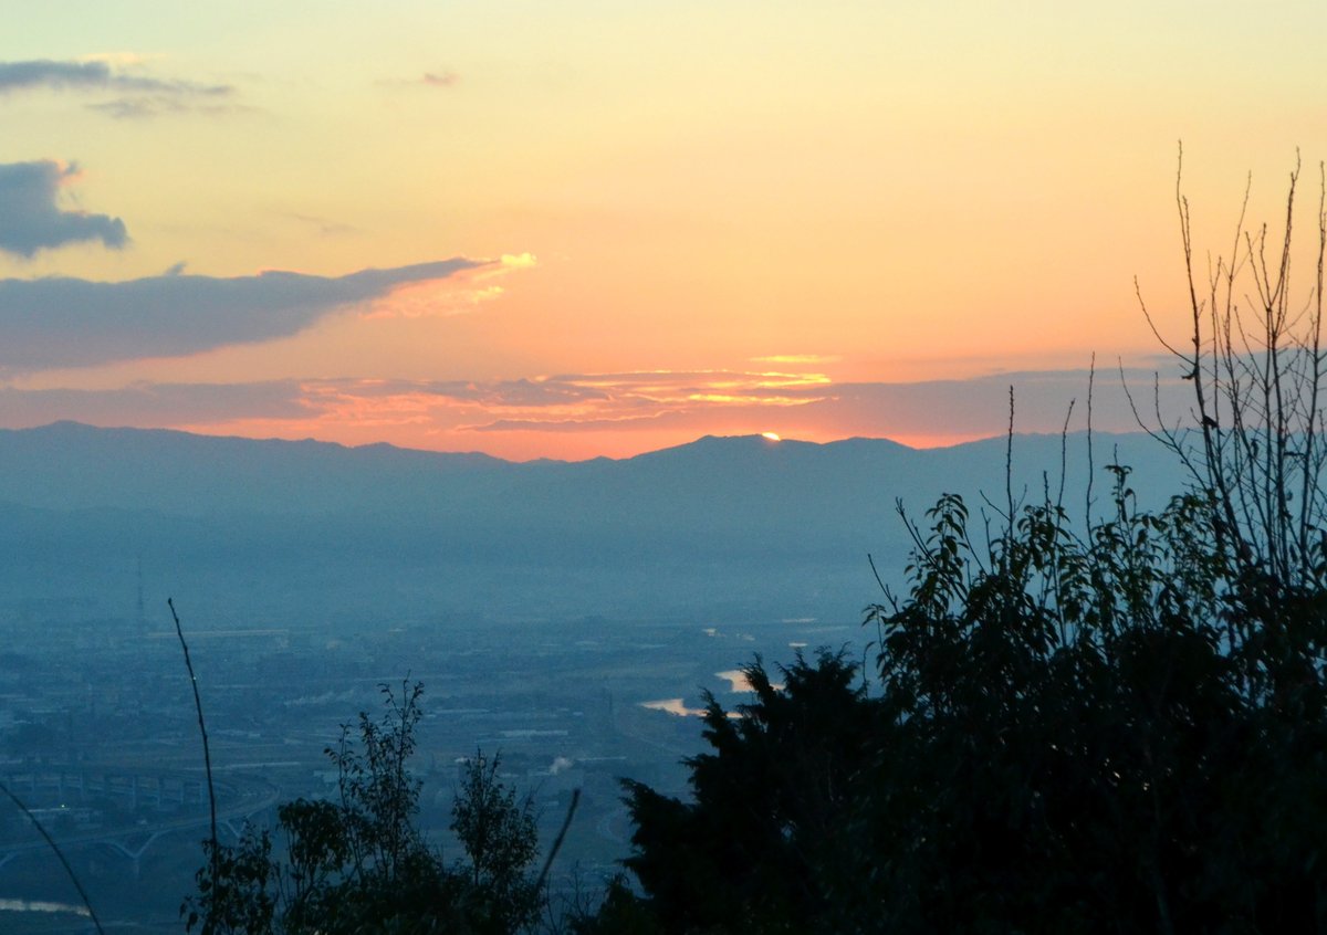
<svg viewBox="0 0 1327 935"><path fill-rule="evenodd" d="M1097 435L1095 452L1099 511L1116 456L1136 468L1144 501L1182 483L1147 436ZM1082 516L1082 435L1016 436L1013 485L1026 500L1054 495L1062 455L1066 505ZM982 491L1003 504L1005 464L1006 439L913 450L705 436L621 460L512 463L61 422L0 430L0 542L12 557L0 584L114 580L142 556L157 580L243 580L269 599L277 589L330 601L353 585L364 602L390 586L423 588L421 603L584 599L587 610L689 606L698 581L711 597L774 601L829 594L841 585L817 582L833 580L860 581L835 595L855 611L873 586L865 554L886 569L905 561L896 500L918 520L942 492L974 511Z"/></svg>

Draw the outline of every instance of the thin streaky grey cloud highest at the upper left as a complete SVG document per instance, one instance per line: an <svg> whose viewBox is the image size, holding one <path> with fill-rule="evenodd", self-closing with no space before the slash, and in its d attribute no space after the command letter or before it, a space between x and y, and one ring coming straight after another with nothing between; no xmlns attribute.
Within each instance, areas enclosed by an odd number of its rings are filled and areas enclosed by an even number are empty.
<svg viewBox="0 0 1327 935"><path fill-rule="evenodd" d="M180 78L157 78L134 70L141 60L102 57L80 61L35 58L0 62L0 97L21 92L110 92L118 97L92 103L92 110L117 118L155 117L186 110L223 111L220 103L234 94L231 85L202 84Z"/></svg>

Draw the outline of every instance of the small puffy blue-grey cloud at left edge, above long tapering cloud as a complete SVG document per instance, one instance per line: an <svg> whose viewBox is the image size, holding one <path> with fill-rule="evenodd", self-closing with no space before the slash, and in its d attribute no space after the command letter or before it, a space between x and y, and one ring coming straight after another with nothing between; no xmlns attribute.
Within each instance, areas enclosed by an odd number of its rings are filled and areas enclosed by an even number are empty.
<svg viewBox="0 0 1327 935"><path fill-rule="evenodd" d="M0 164L0 251L32 257L85 240L111 249L129 243L119 218L60 210L61 186L77 176L77 166L50 159Z"/></svg>

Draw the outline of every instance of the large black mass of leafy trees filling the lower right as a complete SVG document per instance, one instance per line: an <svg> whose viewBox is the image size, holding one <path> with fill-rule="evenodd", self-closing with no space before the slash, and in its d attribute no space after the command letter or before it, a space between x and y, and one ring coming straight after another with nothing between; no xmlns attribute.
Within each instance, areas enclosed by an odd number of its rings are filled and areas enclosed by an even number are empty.
<svg viewBox="0 0 1327 935"><path fill-rule="evenodd" d="M690 802L628 784L662 931L1327 927L1327 605L1246 577L1181 497L1087 540L1024 511L978 552L946 497L878 679L821 654L730 720Z"/></svg>

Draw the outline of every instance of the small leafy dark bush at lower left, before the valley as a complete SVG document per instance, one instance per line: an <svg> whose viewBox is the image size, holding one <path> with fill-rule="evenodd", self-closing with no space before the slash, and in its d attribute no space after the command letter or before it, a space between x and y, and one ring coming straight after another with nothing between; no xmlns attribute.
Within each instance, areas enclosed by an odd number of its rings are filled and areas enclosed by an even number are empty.
<svg viewBox="0 0 1327 935"><path fill-rule="evenodd" d="M285 861L272 857L265 830L245 829L236 846L216 851L204 842L198 894L180 908L188 931L506 935L537 918L540 887L527 874L537 851L533 817L498 779L498 757L480 753L466 769L454 812L467 862L447 867L414 824L419 781L407 761L422 687L382 692L382 719L361 714L358 743L346 725L326 751L340 800L277 809Z"/></svg>

